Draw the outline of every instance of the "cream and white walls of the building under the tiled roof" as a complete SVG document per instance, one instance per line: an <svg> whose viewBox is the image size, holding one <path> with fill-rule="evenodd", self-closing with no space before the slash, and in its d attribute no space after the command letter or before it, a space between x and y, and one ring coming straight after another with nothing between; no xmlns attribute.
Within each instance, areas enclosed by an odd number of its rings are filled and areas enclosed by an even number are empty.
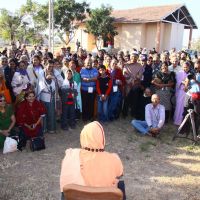
<svg viewBox="0 0 200 200"><path fill-rule="evenodd" d="M118 35L114 38L114 48L120 50L132 50L146 47L152 49L156 46L157 23L146 24L115 24ZM88 51L95 49L94 37L84 32L84 25L76 32L74 41L78 39L81 46ZM169 50L173 47L181 49L184 25L161 23L160 51ZM76 44L72 44L76 49Z"/></svg>

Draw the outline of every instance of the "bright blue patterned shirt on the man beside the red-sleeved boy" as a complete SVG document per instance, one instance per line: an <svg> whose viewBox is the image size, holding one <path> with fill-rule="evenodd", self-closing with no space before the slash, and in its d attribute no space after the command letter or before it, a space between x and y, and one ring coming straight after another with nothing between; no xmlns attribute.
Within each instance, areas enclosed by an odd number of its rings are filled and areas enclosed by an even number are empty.
<svg viewBox="0 0 200 200"><path fill-rule="evenodd" d="M81 79L83 78L97 78L98 70L96 68L82 68L80 71ZM93 91L96 90L96 81L85 82L81 81L81 87L83 91L88 91L88 87L93 87Z"/></svg>

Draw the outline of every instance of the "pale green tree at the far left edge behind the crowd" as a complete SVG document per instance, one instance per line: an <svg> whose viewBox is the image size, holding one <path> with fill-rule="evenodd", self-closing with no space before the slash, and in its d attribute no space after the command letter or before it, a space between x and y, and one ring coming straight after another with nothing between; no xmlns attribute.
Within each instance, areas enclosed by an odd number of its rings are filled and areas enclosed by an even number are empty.
<svg viewBox="0 0 200 200"><path fill-rule="evenodd" d="M0 36L7 41L14 41L21 25L21 17L6 9L0 11Z"/></svg>

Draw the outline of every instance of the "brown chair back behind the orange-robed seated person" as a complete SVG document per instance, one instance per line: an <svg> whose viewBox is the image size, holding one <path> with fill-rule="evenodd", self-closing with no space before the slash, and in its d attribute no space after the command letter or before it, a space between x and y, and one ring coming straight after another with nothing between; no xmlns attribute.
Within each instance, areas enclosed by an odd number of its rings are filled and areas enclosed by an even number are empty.
<svg viewBox="0 0 200 200"><path fill-rule="evenodd" d="M123 193L115 187L88 187L68 184L63 188L66 200L122 200Z"/></svg>

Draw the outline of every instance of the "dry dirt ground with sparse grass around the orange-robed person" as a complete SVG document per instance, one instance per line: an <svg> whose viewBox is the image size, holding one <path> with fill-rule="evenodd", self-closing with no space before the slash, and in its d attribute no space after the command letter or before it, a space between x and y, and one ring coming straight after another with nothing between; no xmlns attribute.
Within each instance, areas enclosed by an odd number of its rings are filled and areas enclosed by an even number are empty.
<svg viewBox="0 0 200 200"><path fill-rule="evenodd" d="M128 200L200 200L200 146L176 139L173 125L159 138L140 136L131 119L105 124L106 150L119 154L124 165ZM0 153L1 200L59 200L59 175L65 149L79 147L75 130L46 134L47 148L7 155Z"/></svg>

